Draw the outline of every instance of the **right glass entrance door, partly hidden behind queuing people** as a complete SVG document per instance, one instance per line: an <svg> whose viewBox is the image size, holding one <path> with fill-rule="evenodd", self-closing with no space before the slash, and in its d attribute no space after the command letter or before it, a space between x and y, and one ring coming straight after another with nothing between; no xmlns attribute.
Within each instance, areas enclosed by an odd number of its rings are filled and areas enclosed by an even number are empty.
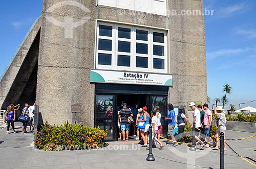
<svg viewBox="0 0 256 169"><path fill-rule="evenodd" d="M167 95L151 95L150 106L151 110L154 110L155 106L160 107L163 136L167 137L167 122L164 120L164 117L167 117Z"/></svg>

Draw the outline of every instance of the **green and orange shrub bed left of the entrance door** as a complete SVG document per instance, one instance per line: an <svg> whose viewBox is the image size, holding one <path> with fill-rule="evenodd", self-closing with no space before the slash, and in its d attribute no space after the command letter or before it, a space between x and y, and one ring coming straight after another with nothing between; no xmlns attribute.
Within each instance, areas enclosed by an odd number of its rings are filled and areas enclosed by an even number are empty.
<svg viewBox="0 0 256 169"><path fill-rule="evenodd" d="M35 146L39 150L82 150L96 149L104 145L106 130L80 124L55 126L47 122L35 133Z"/></svg>

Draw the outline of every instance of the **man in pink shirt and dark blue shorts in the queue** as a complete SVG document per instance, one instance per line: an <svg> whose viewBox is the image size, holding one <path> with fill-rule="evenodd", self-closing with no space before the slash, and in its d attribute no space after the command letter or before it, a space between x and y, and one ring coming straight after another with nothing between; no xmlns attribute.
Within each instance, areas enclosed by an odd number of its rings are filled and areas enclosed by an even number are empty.
<svg viewBox="0 0 256 169"><path fill-rule="evenodd" d="M204 104L203 105L203 108L204 108L204 110L205 110L205 113L204 113L204 120L203 120L203 123L204 123L204 135L205 135L205 138L204 138L204 140L206 141L206 142L208 142L208 140L210 140L210 141L214 141L214 140L212 140L212 138L210 137L210 130L211 130L211 122L212 122L212 116L211 116L211 111L210 111L210 109L208 108L208 104ZM205 147L209 147L209 143L207 143L206 145L205 145Z"/></svg>

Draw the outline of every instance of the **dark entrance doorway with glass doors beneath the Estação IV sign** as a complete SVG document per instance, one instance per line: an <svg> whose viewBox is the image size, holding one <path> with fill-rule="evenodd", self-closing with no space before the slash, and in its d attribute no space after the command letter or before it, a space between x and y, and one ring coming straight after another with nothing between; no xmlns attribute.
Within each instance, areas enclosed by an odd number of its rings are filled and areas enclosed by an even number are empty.
<svg viewBox="0 0 256 169"><path fill-rule="evenodd" d="M167 125L164 120L167 116L167 95L166 86L95 84L94 124L102 130L108 130L106 140L115 141L119 137L117 112L121 104L135 106L136 109L146 106L148 112L151 112L155 106L160 106L161 123L163 128L166 128L163 130L165 136L167 135ZM131 134L134 134L133 131Z"/></svg>

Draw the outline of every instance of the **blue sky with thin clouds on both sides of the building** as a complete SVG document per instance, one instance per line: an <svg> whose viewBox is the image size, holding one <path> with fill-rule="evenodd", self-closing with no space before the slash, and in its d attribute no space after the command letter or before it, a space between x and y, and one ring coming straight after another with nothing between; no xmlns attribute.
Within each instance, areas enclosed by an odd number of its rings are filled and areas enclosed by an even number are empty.
<svg viewBox="0 0 256 169"><path fill-rule="evenodd" d="M256 99L256 1L204 0L204 8L214 10L205 16L207 89L211 103L221 98L228 83L229 104ZM40 16L41 0L0 1L0 74ZM256 107L256 101L241 107ZM239 108L239 107L237 107ZM225 107L228 109L228 107Z"/></svg>

